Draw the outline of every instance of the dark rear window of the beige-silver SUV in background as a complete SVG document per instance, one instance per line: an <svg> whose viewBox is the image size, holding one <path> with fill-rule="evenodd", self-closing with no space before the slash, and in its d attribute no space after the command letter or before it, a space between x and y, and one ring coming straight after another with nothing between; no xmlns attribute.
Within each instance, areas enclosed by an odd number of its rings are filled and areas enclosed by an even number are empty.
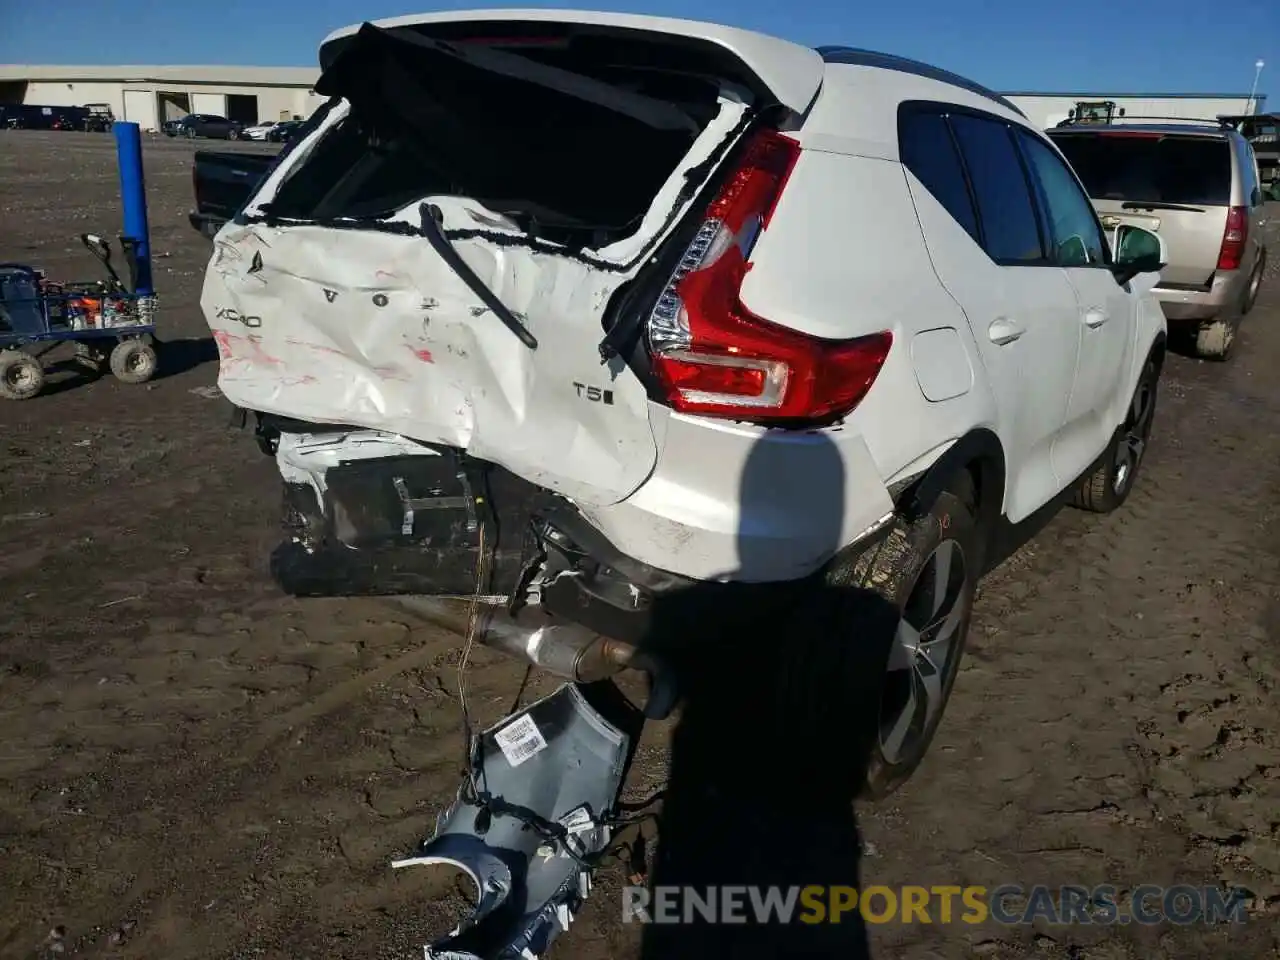
<svg viewBox="0 0 1280 960"><path fill-rule="evenodd" d="M1231 147L1185 136L1068 134L1053 137L1093 200L1192 206L1231 202Z"/></svg>

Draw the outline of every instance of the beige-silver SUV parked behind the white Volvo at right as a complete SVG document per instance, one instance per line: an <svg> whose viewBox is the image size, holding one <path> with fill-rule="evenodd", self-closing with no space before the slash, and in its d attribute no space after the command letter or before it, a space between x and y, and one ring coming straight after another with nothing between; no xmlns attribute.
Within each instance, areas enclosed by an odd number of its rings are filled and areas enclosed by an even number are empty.
<svg viewBox="0 0 1280 960"><path fill-rule="evenodd" d="M1158 233L1169 265L1152 291L1201 356L1225 360L1266 266L1265 197L1249 142L1225 124L1121 123L1047 131L1112 230Z"/></svg>

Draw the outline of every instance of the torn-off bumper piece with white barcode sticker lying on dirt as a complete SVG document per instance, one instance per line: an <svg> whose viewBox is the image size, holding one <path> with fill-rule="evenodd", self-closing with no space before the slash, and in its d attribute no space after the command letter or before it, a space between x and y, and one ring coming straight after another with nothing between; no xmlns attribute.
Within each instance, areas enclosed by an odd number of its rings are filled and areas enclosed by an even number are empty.
<svg viewBox="0 0 1280 960"><path fill-rule="evenodd" d="M566 684L479 741L480 790L559 824L563 838L527 829L500 806L486 813L461 790L435 836L392 867L449 865L475 884L475 910L426 946L426 960L535 960L590 892L582 860L590 864L609 844L605 818L622 787L630 737Z"/></svg>

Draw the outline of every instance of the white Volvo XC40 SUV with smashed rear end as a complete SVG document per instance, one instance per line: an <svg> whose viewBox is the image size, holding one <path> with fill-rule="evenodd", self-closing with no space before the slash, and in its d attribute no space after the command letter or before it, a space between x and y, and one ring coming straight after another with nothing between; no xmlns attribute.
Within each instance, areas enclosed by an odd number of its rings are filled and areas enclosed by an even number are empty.
<svg viewBox="0 0 1280 960"><path fill-rule="evenodd" d="M490 640L581 676L643 662L675 591L856 579L902 611L867 776L895 788L988 545L1133 486L1164 241L1106 236L1009 101L883 54L475 10L320 60L201 301L283 477L279 581L468 596L481 567Z"/></svg>

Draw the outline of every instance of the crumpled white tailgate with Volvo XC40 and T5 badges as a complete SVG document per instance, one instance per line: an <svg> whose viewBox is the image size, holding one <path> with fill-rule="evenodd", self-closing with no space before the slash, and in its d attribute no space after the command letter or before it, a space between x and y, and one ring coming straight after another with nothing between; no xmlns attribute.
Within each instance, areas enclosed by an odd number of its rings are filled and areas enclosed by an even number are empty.
<svg viewBox="0 0 1280 960"><path fill-rule="evenodd" d="M712 155L745 109L723 101L637 233L598 255L623 262L652 243L687 187L684 170ZM268 178L250 218L344 113L333 110ZM500 218L474 201L424 201L447 232L521 237L488 227ZM392 220L410 228L419 207ZM232 221L215 238L201 293L219 349L219 389L246 410L467 449L582 503L628 497L657 460L649 401L621 360L600 362L598 344L611 297L639 268L607 270L518 243L451 239L538 349L512 335L421 236Z"/></svg>

